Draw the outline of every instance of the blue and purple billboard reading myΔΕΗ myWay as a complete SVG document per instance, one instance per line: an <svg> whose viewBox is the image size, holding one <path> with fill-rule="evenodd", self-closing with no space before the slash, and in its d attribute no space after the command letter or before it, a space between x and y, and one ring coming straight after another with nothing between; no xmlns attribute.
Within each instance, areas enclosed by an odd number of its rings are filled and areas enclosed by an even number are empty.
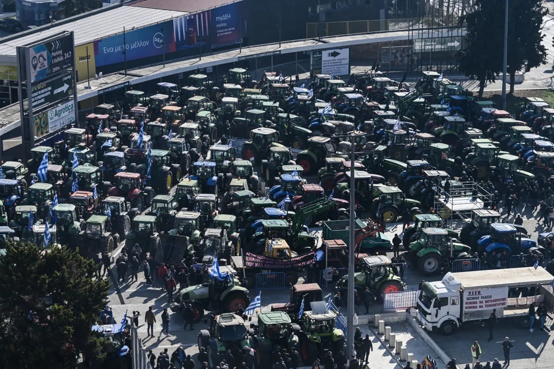
<svg viewBox="0 0 554 369"><path fill-rule="evenodd" d="M210 44L212 49L240 43L242 2L228 4L206 12L179 17L173 20L173 33L177 50L192 49L199 44Z"/></svg>

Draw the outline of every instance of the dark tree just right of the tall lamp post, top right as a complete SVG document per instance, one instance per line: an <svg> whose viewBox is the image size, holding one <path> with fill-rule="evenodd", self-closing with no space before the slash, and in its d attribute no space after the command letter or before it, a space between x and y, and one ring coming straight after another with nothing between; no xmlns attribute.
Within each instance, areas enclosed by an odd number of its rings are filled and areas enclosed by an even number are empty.
<svg viewBox="0 0 554 369"><path fill-rule="evenodd" d="M508 9L508 66L510 94L514 93L515 74L546 64L546 48L542 44L542 18L547 11L541 1L510 0Z"/></svg>

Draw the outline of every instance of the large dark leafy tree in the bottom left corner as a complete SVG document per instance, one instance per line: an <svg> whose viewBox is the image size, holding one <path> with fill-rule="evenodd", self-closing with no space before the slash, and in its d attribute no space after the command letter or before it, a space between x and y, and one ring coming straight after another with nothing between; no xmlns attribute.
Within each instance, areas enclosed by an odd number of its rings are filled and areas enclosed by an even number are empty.
<svg viewBox="0 0 554 369"><path fill-rule="evenodd" d="M73 348L100 355L91 326L109 283L95 279L97 271L93 260L66 247L44 253L8 242L0 259L0 360L14 368L60 368L74 360Z"/></svg>

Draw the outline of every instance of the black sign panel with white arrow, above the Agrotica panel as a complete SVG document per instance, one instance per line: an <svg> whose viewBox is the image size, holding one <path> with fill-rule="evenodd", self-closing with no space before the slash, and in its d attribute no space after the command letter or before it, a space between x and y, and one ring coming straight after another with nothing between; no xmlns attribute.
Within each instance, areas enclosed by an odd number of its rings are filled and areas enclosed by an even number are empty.
<svg viewBox="0 0 554 369"><path fill-rule="evenodd" d="M69 71L33 85L31 104L35 110L71 95L73 95L73 73Z"/></svg>

